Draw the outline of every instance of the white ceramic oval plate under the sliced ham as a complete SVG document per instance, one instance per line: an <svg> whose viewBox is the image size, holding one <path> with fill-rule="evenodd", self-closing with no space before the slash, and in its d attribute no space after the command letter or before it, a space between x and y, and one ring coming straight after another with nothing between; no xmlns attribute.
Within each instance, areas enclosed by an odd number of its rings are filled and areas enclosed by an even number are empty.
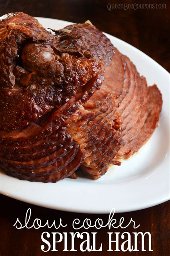
<svg viewBox="0 0 170 256"><path fill-rule="evenodd" d="M38 18L46 28L60 29L70 24L62 20ZM21 181L0 173L2 194L27 203L80 213L109 213L139 210L169 199L169 73L122 40L107 34L113 45L130 57L148 85L157 84L163 96L162 116L151 140L122 166L110 167L99 180L83 174L57 183ZM152 50L152 49L151 49Z"/></svg>

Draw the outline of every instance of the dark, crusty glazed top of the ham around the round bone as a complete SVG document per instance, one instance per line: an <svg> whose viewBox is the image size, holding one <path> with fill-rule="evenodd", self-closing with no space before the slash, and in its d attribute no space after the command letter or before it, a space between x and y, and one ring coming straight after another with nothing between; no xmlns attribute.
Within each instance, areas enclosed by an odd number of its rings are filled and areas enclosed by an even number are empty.
<svg viewBox="0 0 170 256"><path fill-rule="evenodd" d="M24 127L76 93L87 101L114 54L107 37L89 24L53 36L33 17L14 13L3 17L0 27L0 130Z"/></svg>

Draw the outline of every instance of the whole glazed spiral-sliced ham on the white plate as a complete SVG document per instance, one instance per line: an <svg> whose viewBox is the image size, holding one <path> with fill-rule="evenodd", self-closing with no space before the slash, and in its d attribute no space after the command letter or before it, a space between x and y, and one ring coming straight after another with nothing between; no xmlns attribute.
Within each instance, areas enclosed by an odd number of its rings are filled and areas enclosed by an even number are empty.
<svg viewBox="0 0 170 256"><path fill-rule="evenodd" d="M136 153L162 97L92 24L53 32L24 13L0 19L0 167L29 181L97 179Z"/></svg>

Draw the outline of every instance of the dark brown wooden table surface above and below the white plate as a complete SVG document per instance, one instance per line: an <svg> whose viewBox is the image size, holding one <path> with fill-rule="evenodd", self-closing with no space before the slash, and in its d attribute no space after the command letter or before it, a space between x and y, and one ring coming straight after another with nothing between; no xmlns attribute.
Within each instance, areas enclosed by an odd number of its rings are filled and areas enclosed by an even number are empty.
<svg viewBox="0 0 170 256"><path fill-rule="evenodd" d="M152 2L152 1L151 1ZM158 1L157 3L160 3ZM152 59L157 61L166 70L169 69L169 11L168 3L166 9L107 9L108 3L119 3L111 0L1 0L0 15L14 11L23 11L32 16L56 18L68 20L70 22L82 23L89 19L99 29L115 37L118 37L141 51L145 52ZM137 3L136 1L123 1L123 3ZM154 2L156 4L156 1ZM145 189L145 188L144 188ZM78 192L78 191L77 191ZM130 203L130 202L129 202ZM72 228L72 221L75 218L83 220L90 218L102 218L104 222L108 220L108 214L78 214L56 211L29 205L9 197L1 195L1 218L0 218L0 256L42 256L42 255L89 255L90 252L80 252L79 239L75 240L77 252L62 252L63 242L58 243L58 252L42 252L41 234L44 231L57 232L54 229L16 229L13 227L16 218L24 221L28 208L32 209L32 219L40 218L43 222L47 219L55 220L62 218L63 223L67 223L66 228L60 228L58 232L75 232ZM93 252L93 255L170 255L169 240L170 235L170 204L169 202L131 213L115 214L119 220L124 217L128 221L131 217L140 224L138 232L150 232L152 236L153 252L107 252L108 228L98 230L96 247L99 242L103 243L102 252ZM86 231L81 229L81 232ZM132 234L134 229L130 225L126 230L118 228L115 232L124 231ZM91 228L88 232L96 232ZM147 245L147 244L146 244ZM92 253L92 252L91 252Z"/></svg>

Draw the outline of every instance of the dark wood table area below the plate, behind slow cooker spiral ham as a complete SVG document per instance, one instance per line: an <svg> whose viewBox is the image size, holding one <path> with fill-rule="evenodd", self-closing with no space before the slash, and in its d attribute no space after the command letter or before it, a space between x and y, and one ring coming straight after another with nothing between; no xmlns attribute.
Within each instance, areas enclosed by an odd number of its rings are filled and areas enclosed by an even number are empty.
<svg viewBox="0 0 170 256"><path fill-rule="evenodd" d="M5 197L1 195L1 219L0 219L0 255L1 256L41 256L44 255L44 252L41 251L41 245L43 244L41 240L42 232L75 232L72 228L72 221L75 218L79 218L80 221L85 218L90 218L92 222L96 218L101 218L105 223L108 220L108 214L79 214L79 213L68 213L64 211L57 211L42 208L39 206L30 205L27 203L20 202L18 200L11 199L9 197ZM42 223L45 223L48 219L58 220L62 218L63 224L67 224L66 228L60 228L59 230L41 228L41 229L16 229L13 227L17 218L19 218L20 222L25 223L25 213L28 208L32 210L32 217L30 220L30 224L32 224L33 220L39 218L42 220ZM115 219L119 221L121 217L124 217L125 224L129 222L131 217L136 222L136 224L140 224L140 227L137 229L137 232L150 232L152 236L152 250L153 252L131 252L132 255L140 255L140 256L169 256L169 222L170 222L170 203L166 202L161 205L157 205L148 209L134 211L130 213L120 213L115 214ZM80 229L81 232L85 232L87 230ZM107 252L108 250L108 236L107 232L136 232L133 229L132 225L129 225L126 229L115 229L109 231L108 227L99 229L98 231L95 228L88 229L88 232L98 232L96 236L96 248L99 248L100 243L103 243L103 251L102 252L93 252L95 256L103 256L103 255L131 255L130 252ZM49 239L50 240L50 239ZM50 240L52 241L52 240ZM70 243L69 243L70 242ZM68 248L71 248L71 241L68 239ZM121 240L120 240L121 243ZM133 243L132 243L133 245ZM71 255L71 256L87 256L90 252L80 252L80 239L75 240L75 249L77 252L62 252L64 248L64 242L60 242L57 245L58 252L46 252L45 255ZM145 244L145 248L147 250L147 242ZM113 250L115 246L113 246ZM51 248L52 250L52 248ZM91 252L92 253L92 252Z"/></svg>

